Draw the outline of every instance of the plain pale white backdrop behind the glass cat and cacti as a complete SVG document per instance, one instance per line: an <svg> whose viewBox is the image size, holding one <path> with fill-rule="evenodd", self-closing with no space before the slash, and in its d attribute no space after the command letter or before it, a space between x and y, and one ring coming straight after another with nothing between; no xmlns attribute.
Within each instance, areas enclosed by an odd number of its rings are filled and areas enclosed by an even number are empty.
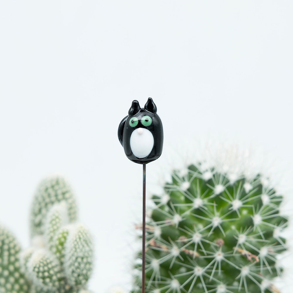
<svg viewBox="0 0 293 293"><path fill-rule="evenodd" d="M142 170L124 155L117 127L134 99L143 107L152 97L164 125L164 153L147 174L172 161L178 140L217 136L260 147L290 178L292 8L282 0L1 1L0 222L27 247L35 186L64 174L96 239L89 287L129 284Z"/></svg>

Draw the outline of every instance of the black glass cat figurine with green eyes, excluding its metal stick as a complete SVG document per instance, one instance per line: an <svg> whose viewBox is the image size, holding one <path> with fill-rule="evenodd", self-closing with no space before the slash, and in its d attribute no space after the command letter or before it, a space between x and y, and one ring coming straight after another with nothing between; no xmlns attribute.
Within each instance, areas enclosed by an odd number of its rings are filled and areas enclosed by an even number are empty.
<svg viewBox="0 0 293 293"><path fill-rule="evenodd" d="M149 98L144 108L132 102L128 116L118 127L118 139L131 161L146 164L159 158L163 149L163 125L157 107Z"/></svg>

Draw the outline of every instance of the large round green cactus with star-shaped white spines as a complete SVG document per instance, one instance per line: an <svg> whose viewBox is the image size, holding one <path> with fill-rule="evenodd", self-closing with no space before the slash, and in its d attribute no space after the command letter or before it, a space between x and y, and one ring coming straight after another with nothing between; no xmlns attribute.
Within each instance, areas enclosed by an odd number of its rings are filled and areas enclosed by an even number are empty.
<svg viewBox="0 0 293 293"><path fill-rule="evenodd" d="M196 164L173 171L163 189L146 226L146 292L280 292L272 280L282 275L287 217L267 179ZM135 268L141 292L141 262Z"/></svg>

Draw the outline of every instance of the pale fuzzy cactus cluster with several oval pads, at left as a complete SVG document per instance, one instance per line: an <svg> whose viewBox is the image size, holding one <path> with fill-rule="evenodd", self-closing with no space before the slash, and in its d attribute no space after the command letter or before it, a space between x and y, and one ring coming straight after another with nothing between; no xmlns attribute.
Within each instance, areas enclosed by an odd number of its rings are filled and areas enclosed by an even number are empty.
<svg viewBox="0 0 293 293"><path fill-rule="evenodd" d="M76 202L61 177L43 180L31 209L32 245L21 251L0 227L0 292L89 293L93 243L76 222Z"/></svg>

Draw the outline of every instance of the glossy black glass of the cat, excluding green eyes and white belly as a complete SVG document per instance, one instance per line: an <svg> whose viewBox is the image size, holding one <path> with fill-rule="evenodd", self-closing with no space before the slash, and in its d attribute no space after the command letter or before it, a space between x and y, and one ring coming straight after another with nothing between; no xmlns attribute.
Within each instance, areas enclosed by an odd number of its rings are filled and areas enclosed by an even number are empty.
<svg viewBox="0 0 293 293"><path fill-rule="evenodd" d="M124 148L125 154L131 161L139 164L147 164L159 158L163 150L163 125L160 117L156 114L157 108L155 103L151 98L148 99L147 103L144 105L144 108L140 108L137 100L132 102L132 105L128 111L128 116L124 117L118 127L118 139ZM143 116L151 117L152 123L149 126L142 125ZM135 127L130 126L130 120L133 117L138 118L138 124ZM130 137L132 132L137 128L146 128L151 132L154 137L154 146L150 154L145 158L137 158L132 153L130 147Z"/></svg>

